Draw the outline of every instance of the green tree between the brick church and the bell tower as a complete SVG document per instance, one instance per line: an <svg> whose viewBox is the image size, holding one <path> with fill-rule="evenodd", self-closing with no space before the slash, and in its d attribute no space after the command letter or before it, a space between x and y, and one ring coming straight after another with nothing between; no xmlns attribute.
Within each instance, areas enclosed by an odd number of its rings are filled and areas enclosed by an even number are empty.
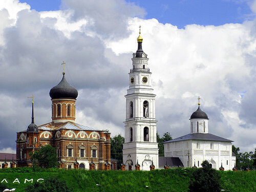
<svg viewBox="0 0 256 192"><path fill-rule="evenodd" d="M111 140L111 158L118 159L117 167L123 162L123 143L124 137L121 134L116 135Z"/></svg>

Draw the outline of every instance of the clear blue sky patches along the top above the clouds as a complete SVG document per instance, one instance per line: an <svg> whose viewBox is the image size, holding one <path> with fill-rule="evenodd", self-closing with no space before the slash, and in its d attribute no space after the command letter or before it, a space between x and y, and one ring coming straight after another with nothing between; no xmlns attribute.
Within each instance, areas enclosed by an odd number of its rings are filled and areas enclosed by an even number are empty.
<svg viewBox="0 0 256 192"><path fill-rule="evenodd" d="M20 0L36 11L59 10L61 0ZM184 28L189 24L219 26L252 20L250 1L232 0L134 0L129 1L144 8L145 18L156 18L160 23L170 23Z"/></svg>

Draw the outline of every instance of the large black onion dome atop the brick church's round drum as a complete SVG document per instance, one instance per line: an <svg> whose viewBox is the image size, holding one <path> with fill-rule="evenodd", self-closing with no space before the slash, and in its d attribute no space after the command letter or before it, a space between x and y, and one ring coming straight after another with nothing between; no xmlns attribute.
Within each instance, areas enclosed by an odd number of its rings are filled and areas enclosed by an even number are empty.
<svg viewBox="0 0 256 192"><path fill-rule="evenodd" d="M61 98L69 98L69 99L76 99L78 96L77 90L72 87L68 81L65 79L65 73L59 84L53 87L50 90L50 97L52 99L61 99Z"/></svg>

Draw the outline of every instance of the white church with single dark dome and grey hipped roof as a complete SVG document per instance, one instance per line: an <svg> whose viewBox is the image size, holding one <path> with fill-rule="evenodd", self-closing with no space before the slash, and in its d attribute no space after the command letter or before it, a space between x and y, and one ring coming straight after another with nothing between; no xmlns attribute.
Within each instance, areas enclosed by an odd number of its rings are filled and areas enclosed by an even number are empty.
<svg viewBox="0 0 256 192"><path fill-rule="evenodd" d="M164 156L179 157L184 167L201 167L207 160L212 168L232 170L236 163L232 141L208 133L208 116L201 111L200 102L189 120L190 134L164 142Z"/></svg>

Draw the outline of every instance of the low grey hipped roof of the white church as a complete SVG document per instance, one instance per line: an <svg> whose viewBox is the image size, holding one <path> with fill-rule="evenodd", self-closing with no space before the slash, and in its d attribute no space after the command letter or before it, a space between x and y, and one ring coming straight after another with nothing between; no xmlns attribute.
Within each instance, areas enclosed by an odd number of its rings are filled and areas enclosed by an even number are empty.
<svg viewBox="0 0 256 192"><path fill-rule="evenodd" d="M184 141L184 140L209 140L209 141L227 141L227 142L233 142L229 139L225 139L216 135L212 135L210 133L193 133L193 134L187 134L178 138L175 138L173 140L165 141L163 143L168 142L175 142L175 141Z"/></svg>

